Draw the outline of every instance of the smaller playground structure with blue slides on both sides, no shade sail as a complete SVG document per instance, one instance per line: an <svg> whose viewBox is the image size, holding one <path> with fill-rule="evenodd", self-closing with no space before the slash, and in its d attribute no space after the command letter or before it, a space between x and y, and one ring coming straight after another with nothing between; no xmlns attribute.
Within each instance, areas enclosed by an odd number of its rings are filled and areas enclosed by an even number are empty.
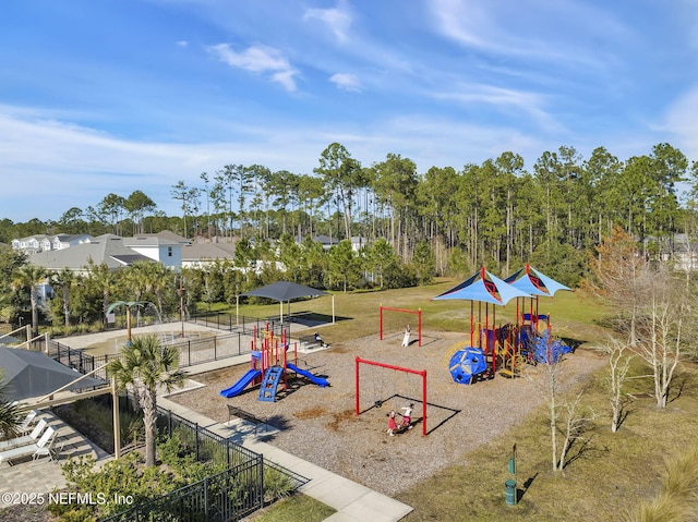
<svg viewBox="0 0 698 522"><path fill-rule="evenodd" d="M274 331L269 330L267 325L266 329L261 333L255 328L254 338L250 341L250 369L231 387L220 390L220 396L229 399L239 396L249 386L260 386L258 400L275 402L279 384L284 390L288 390L288 372L301 375L321 388L329 386L329 383L324 377L318 377L297 366L298 343L293 343L293 362L288 360L290 344L286 337L286 330L284 330L280 338L275 337ZM256 347L257 339L261 339L258 349Z"/></svg>

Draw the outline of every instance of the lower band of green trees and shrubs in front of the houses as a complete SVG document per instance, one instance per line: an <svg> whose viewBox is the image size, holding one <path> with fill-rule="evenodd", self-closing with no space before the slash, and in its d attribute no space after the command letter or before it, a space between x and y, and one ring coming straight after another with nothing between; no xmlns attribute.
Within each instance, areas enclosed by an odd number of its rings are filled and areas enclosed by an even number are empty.
<svg viewBox="0 0 698 522"><path fill-rule="evenodd" d="M51 325L55 333L100 329L117 301L147 302L146 312L163 321L179 317L182 311L190 316L220 303L234 304L240 294L279 280L348 291L413 287L431 281L433 274L433 256L425 242L418 246L413 260L404 264L384 239L359 252L349 240L326 251L310 238L298 244L290 234L274 247L269 242L253 245L242 239L232 258L180 271L152 262L110 270L92 260L80 272L49 270L5 246L0 247L0 319L31 323L35 336L39 324ZM37 289L46 282L52 294L39 302Z"/></svg>

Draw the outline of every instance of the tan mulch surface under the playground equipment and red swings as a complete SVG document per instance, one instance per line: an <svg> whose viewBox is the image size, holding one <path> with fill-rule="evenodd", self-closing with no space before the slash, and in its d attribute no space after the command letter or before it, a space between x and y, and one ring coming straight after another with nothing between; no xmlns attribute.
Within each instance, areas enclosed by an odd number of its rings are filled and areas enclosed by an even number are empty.
<svg viewBox="0 0 698 522"><path fill-rule="evenodd" d="M297 365L326 377L330 386L321 388L288 374L288 389L279 389L275 402L260 401L258 386L230 399L219 396L243 376L249 362L198 374L194 378L204 387L169 399L218 423L228 420L227 404L237 405L274 427L266 436L262 433L265 442L395 496L453 463L467 464L467 452L519 423L544 401L542 366L526 365L515 379L497 375L473 385L455 384L447 366L450 355L462 347L464 335L425 331L423 338L421 348L417 341L400 348L400 332L383 341L369 336L299 354ZM418 375L361 365L362 413L356 415L357 356L426 371L425 437ZM595 352L578 349L562 363L561 386L583 379L603 362ZM409 402L414 403L414 428L389 437L387 413L399 412Z"/></svg>

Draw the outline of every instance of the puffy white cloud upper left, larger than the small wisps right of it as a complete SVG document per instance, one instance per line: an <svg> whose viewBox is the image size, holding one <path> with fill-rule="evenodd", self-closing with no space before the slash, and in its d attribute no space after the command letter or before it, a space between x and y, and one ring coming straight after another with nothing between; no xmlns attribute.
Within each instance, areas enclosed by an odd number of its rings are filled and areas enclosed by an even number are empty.
<svg viewBox="0 0 698 522"><path fill-rule="evenodd" d="M278 49L252 46L237 52L229 44L218 44L208 47L208 50L232 68L253 73L270 73L274 82L280 83L287 90L296 90L294 76L298 75L298 71Z"/></svg>

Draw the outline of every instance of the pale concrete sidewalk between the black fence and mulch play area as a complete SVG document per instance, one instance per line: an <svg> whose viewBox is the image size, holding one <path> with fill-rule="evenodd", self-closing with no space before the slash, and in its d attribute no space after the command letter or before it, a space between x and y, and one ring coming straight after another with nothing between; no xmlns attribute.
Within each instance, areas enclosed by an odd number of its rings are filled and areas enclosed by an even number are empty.
<svg viewBox="0 0 698 522"><path fill-rule="evenodd" d="M161 408L171 410L172 413L195 422L221 437L262 453L275 464L310 478L300 491L337 510L326 519L329 522L394 522L412 511L410 506L261 441L251 423L239 418L230 423L217 423L166 397L158 397L158 403ZM268 425L261 426L260 436L270 435L275 429Z"/></svg>

